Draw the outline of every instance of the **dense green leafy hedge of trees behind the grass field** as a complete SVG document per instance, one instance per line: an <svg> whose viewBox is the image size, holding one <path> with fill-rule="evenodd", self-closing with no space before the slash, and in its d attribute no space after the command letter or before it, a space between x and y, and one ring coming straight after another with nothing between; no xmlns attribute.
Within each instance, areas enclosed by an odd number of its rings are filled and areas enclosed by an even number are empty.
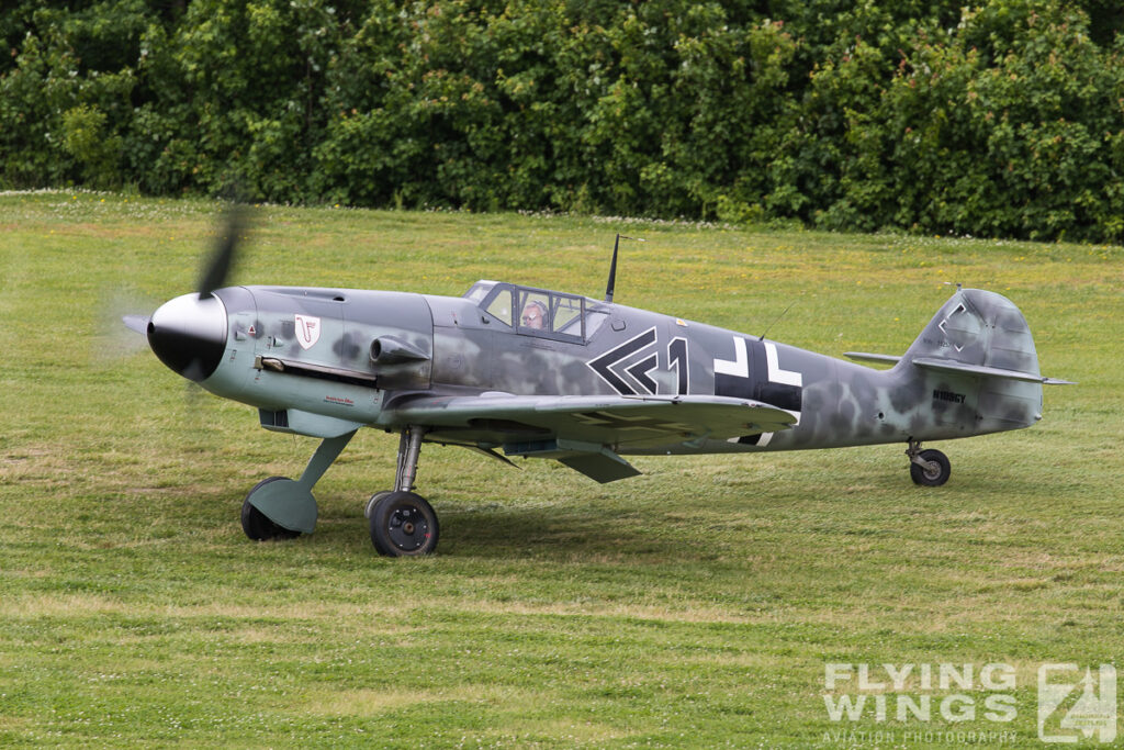
<svg viewBox="0 0 1124 750"><path fill-rule="evenodd" d="M0 15L0 184L1124 237L1115 0Z"/></svg>

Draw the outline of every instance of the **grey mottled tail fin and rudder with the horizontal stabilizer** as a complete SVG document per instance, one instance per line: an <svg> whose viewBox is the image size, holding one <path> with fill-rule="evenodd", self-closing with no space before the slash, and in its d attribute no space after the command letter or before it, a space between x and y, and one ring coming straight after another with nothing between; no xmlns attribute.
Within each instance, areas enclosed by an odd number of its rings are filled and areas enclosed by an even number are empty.
<svg viewBox="0 0 1124 750"><path fill-rule="evenodd" d="M971 432L1027 427L1042 418L1042 385L1026 318L1001 295L960 289L930 320L895 370L916 368L943 400L971 405ZM960 412L963 414L963 412Z"/></svg>

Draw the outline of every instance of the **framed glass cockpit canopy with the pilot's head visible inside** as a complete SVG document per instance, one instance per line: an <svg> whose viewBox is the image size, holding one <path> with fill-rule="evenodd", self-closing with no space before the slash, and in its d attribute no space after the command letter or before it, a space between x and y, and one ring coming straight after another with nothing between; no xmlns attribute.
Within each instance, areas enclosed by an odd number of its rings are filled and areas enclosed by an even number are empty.
<svg viewBox="0 0 1124 750"><path fill-rule="evenodd" d="M514 333L555 341L584 343L608 317L586 297L500 281L478 281L464 297Z"/></svg>

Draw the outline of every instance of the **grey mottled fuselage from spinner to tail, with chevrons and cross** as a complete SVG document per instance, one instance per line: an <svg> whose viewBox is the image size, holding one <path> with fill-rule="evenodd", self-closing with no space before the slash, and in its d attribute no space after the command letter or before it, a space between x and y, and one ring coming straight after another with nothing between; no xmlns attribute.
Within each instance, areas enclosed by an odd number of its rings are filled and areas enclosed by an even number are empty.
<svg viewBox="0 0 1124 750"><path fill-rule="evenodd" d="M625 453L942 440L1023 427L1040 416L1033 383L1021 391L1025 408L1017 414L987 414L978 378L908 362L880 371L703 323L491 281L463 297L228 287L209 299L172 300L154 314L148 337L172 369L259 408L263 426L319 436L334 422L339 430L400 430L393 407L417 394L728 396L798 417L777 433L622 446ZM441 441L439 431L428 440Z"/></svg>

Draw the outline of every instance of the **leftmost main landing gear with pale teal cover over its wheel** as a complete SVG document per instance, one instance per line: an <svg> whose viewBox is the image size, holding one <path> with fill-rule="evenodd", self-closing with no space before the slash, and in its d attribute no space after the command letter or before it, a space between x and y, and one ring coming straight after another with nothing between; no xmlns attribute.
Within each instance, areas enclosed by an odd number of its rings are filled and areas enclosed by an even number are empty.
<svg viewBox="0 0 1124 750"><path fill-rule="evenodd" d="M300 479L270 477L259 482L242 504L242 530L255 541L292 539L316 528L312 487L355 435L328 437L316 449Z"/></svg>

